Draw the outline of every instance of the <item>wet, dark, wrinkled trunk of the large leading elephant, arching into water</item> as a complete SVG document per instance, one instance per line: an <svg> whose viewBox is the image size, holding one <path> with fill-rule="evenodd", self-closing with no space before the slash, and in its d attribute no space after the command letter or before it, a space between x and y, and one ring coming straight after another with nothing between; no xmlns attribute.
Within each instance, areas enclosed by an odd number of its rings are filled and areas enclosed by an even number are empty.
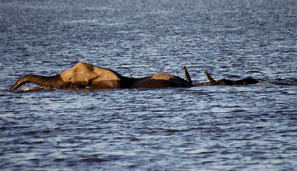
<svg viewBox="0 0 297 171"><path fill-rule="evenodd" d="M60 74L51 77L29 74L20 78L10 90L16 90L26 83L34 83L48 88L61 88L63 86L63 80Z"/></svg>

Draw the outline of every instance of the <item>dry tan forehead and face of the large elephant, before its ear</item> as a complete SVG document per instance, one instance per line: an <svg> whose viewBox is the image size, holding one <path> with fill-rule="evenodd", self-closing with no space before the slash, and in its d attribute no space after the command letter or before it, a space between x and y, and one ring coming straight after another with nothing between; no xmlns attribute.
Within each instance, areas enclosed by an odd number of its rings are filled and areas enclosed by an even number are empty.
<svg viewBox="0 0 297 171"><path fill-rule="evenodd" d="M89 81L98 76L93 72L93 65L84 62L79 62L72 68L62 72L60 75L66 82Z"/></svg>

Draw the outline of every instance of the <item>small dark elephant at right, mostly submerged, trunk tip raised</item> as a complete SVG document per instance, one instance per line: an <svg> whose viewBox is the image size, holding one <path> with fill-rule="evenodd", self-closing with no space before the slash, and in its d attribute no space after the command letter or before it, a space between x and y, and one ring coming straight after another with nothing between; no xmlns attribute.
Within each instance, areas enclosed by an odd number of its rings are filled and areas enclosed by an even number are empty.
<svg viewBox="0 0 297 171"><path fill-rule="evenodd" d="M221 80L217 80L215 81L207 72L207 70L204 72L209 80L209 82L211 83L211 85L248 85L248 84L256 84L256 83L260 83L258 80L253 79L251 77L248 78L244 78L241 80L228 80L228 79L221 79Z"/></svg>

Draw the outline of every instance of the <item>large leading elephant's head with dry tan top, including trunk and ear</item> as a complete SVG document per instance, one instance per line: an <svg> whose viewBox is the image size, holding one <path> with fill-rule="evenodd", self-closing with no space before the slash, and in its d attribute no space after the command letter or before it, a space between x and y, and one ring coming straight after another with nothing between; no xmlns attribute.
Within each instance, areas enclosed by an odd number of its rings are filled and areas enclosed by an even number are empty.
<svg viewBox="0 0 297 171"><path fill-rule="evenodd" d="M48 88L87 88L98 83L119 82L122 76L110 69L100 68L79 62L72 68L55 76L26 75L20 78L10 89L16 90L26 83L34 83ZM113 80L113 81L110 81Z"/></svg>

